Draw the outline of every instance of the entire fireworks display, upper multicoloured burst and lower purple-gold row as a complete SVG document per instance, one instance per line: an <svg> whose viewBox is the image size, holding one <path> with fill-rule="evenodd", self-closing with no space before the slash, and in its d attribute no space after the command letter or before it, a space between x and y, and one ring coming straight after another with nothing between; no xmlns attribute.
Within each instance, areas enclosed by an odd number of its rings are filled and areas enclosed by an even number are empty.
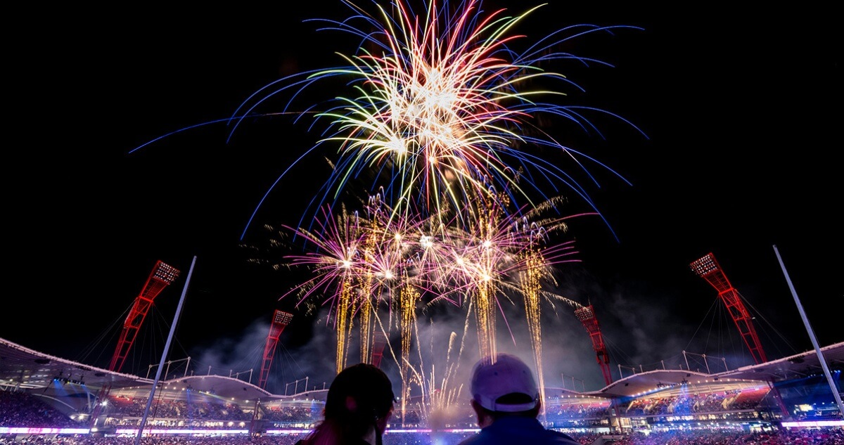
<svg viewBox="0 0 844 445"><path fill-rule="evenodd" d="M281 298L298 298L297 307L318 300L330 308L338 372L355 329L361 361L371 359L376 335L389 339L398 332L402 408L410 383L432 389L436 381L433 367L426 377L410 357L421 308L464 310L485 355L496 351L498 323L510 330L503 305L521 303L544 390L542 308L556 302L578 306L548 290L555 267L577 260L572 242L555 244L555 238L565 233L568 218L600 216L576 175L597 183L587 168L597 165L624 180L558 142L544 122L553 121L555 131L565 123L599 135L587 115L630 124L604 110L565 104L568 90L582 88L548 67L562 61L608 65L564 49L585 35L636 28L584 24L530 40L516 30L540 7L508 15L505 9L484 10L480 0L428 0L416 13L406 0L393 0L388 6L373 2L370 13L340 1L352 11L348 19L316 21L358 42L351 54L339 54L344 65L270 83L230 119L235 131L246 117L313 118L311 128L322 138L276 185L307 156L320 153L331 166L299 225L285 226L305 246L304 253L285 260L310 276ZM311 102L312 94L325 91L337 94ZM288 97L283 111L262 111L279 95ZM300 99L307 103L297 110ZM561 217L560 189L580 197L590 212ZM368 198L356 205L341 200L362 195ZM454 368L446 373L453 377ZM454 392L439 391L429 402L442 409Z"/></svg>

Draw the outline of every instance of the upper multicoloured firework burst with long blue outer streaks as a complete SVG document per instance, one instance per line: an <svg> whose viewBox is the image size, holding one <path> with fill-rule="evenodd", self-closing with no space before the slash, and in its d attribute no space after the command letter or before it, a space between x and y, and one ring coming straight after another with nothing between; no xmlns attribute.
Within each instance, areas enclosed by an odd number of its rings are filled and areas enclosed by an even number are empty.
<svg viewBox="0 0 844 445"><path fill-rule="evenodd" d="M343 81L350 95L329 100L327 110L308 105L302 113L315 116L314 128L324 123L327 135L308 154L317 147L337 150L319 206L337 200L353 179L363 178L372 181L368 190L384 188L383 197L395 212L407 212L409 206L425 215L445 206L459 211L474 196L498 196L496 190L535 205L560 185L589 201L562 163L569 159L585 170L584 161L597 161L556 142L538 121L549 116L597 131L587 111L615 115L560 104L566 90L579 87L544 66L564 59L601 64L558 48L584 35L632 27L573 26L529 44L527 36L513 31L537 8L506 15L503 9L485 12L479 0L456 7L430 0L417 14L395 0L388 8L374 3L376 13L371 14L343 3L354 15L342 22L322 21L326 29L360 40L354 54L340 55L346 65L271 83L235 112L252 115L289 89L300 98L322 83ZM517 52L515 46L527 49ZM285 112L294 107L291 100ZM540 156L537 148L552 153Z"/></svg>

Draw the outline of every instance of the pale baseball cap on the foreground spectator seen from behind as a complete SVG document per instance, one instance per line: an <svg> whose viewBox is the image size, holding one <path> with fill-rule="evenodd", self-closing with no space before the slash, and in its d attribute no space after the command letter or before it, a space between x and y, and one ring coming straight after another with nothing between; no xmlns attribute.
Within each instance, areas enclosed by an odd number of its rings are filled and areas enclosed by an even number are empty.
<svg viewBox="0 0 844 445"><path fill-rule="evenodd" d="M539 401L539 389L530 368L519 357L504 352L483 357L475 363L470 389L472 398L490 411L532 410ZM498 401L501 396L510 394L523 394L529 401L515 404Z"/></svg>

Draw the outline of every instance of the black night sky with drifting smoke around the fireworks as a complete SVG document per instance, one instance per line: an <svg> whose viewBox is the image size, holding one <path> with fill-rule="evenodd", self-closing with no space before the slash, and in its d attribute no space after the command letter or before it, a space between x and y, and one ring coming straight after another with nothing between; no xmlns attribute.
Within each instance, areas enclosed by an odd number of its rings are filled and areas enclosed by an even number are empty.
<svg viewBox="0 0 844 445"><path fill-rule="evenodd" d="M509 3L497 2L513 13L527 8ZM197 372L260 367L273 310L295 312L279 296L304 272L248 263L241 244L260 245L262 223L297 224L325 169L295 169L241 233L318 135L309 121L275 116L244 121L228 141L229 128L217 124L130 152L228 118L285 75L337 66L334 52L349 51L348 37L303 19L347 10L338 0L306 4L26 15L31 32L16 36L6 64L11 251L0 337L107 367L126 311L164 260L181 277L160 294L147 320L158 331L145 331L124 369L143 375L160 360L196 256L170 360L192 357ZM598 174L599 186L588 186L618 239L598 219L577 220L567 235L582 262L560 271L560 292L594 306L614 378L620 368L682 361L682 351L723 357L729 368L752 363L715 289L690 271L710 252L755 315L768 358L812 348L775 245L820 344L844 340L833 13L684 8L554 2L521 29L528 38L572 24L643 29L573 40L572 52L614 67L555 67L586 88L571 100L647 134L599 120L605 140L572 137L631 184ZM545 317L546 384L568 376L603 386L571 308ZM452 329L444 319L434 325ZM281 340L277 392L306 376L330 379L333 331L320 319L296 313ZM516 347L505 340L501 348Z"/></svg>

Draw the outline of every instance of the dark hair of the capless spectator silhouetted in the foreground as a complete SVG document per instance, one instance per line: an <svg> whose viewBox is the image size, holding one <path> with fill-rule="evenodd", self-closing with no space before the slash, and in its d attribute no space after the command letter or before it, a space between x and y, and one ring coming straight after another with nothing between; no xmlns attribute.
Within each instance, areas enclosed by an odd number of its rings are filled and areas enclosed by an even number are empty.
<svg viewBox="0 0 844 445"><path fill-rule="evenodd" d="M349 397L354 399L354 410L347 406ZM322 442L320 437L323 435L332 435L342 441L338 443L359 439L376 425L376 421L389 414L394 399L392 382L380 368L369 363L347 367L337 374L328 388L325 418L308 442ZM383 432L376 428L376 433L380 438Z"/></svg>

